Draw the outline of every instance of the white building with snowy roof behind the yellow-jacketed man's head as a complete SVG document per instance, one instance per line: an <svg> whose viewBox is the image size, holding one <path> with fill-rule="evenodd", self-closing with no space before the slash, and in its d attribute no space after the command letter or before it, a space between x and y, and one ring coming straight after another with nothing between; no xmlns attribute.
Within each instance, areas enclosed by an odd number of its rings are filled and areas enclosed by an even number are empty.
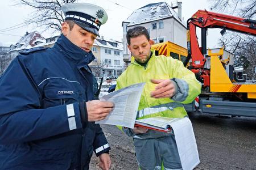
<svg viewBox="0 0 256 170"><path fill-rule="evenodd" d="M177 8L177 12L174 8ZM127 49L127 30L138 25L147 28L150 39L155 42L171 41L187 48L187 27L181 19L181 2L177 2L175 7L169 6L166 2L150 3L135 10L123 21L123 59L125 62L130 62L131 57Z"/></svg>

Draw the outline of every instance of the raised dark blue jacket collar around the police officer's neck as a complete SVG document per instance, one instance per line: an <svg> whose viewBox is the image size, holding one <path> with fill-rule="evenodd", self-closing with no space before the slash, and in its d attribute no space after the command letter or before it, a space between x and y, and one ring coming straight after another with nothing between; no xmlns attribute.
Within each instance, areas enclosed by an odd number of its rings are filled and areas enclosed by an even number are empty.
<svg viewBox="0 0 256 170"><path fill-rule="evenodd" d="M71 41L69 41L63 34L60 35L53 48L56 48L61 53L63 53L65 57L77 63L79 67L88 65L93 61L93 59L95 59L92 51L89 53L85 52L79 48L79 46L76 46Z"/></svg>

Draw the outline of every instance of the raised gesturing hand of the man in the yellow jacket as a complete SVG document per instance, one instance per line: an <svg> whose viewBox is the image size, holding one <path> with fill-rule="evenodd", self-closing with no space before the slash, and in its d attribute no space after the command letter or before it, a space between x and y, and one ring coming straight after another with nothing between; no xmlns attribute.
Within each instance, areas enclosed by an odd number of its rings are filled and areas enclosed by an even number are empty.
<svg viewBox="0 0 256 170"><path fill-rule="evenodd" d="M150 93L151 97L159 99L165 97L170 98L175 95L175 86L174 83L172 83L172 80L151 79L151 82L158 84L155 87L155 90Z"/></svg>

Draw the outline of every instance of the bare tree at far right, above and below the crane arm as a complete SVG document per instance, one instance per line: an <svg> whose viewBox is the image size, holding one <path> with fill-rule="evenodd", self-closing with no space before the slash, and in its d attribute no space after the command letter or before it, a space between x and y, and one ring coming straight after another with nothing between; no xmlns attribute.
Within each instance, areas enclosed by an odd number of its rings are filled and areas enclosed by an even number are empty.
<svg viewBox="0 0 256 170"><path fill-rule="evenodd" d="M238 15L242 18L256 18L256 0L208 0L211 10L224 14ZM234 53L240 65L243 66L247 76L255 79L256 66L256 39L241 33L227 32L221 37L219 45Z"/></svg>

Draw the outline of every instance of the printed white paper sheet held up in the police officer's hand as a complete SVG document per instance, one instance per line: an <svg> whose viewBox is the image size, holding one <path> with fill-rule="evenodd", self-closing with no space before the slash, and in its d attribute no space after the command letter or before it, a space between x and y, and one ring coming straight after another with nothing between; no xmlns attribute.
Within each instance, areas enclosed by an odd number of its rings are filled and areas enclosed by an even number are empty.
<svg viewBox="0 0 256 170"><path fill-rule="evenodd" d="M133 129L144 85L145 83L133 84L102 96L101 101L112 101L114 109L104 120L95 123L119 125Z"/></svg>

